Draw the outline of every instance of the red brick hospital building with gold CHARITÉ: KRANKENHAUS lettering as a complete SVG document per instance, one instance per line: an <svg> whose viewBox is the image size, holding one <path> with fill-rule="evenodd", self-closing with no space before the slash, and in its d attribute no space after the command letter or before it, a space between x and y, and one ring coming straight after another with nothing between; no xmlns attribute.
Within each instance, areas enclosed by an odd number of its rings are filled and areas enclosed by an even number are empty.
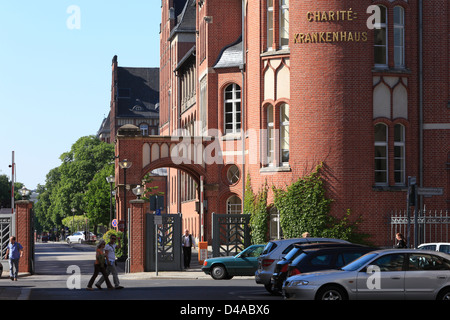
<svg viewBox="0 0 450 320"><path fill-rule="evenodd" d="M247 175L255 190L283 187L319 163L331 213L361 215L378 245L391 243L389 213L406 209L409 176L442 188L418 207L450 209L448 0L161 9L161 135L185 129L221 144L223 163L205 164L206 230L211 212L241 211ZM199 181L173 168L168 180L169 212L198 237Z"/></svg>

